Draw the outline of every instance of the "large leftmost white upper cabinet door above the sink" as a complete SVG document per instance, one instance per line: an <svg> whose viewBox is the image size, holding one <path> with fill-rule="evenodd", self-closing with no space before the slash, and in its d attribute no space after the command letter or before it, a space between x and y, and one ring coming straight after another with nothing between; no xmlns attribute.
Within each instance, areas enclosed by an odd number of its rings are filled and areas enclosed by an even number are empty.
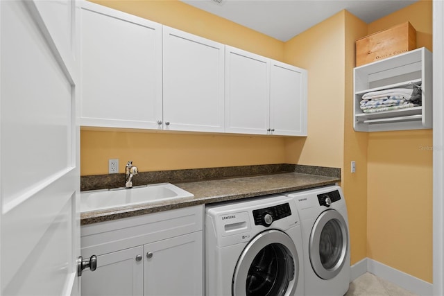
<svg viewBox="0 0 444 296"><path fill-rule="evenodd" d="M161 129L162 25L81 4L80 123Z"/></svg>

